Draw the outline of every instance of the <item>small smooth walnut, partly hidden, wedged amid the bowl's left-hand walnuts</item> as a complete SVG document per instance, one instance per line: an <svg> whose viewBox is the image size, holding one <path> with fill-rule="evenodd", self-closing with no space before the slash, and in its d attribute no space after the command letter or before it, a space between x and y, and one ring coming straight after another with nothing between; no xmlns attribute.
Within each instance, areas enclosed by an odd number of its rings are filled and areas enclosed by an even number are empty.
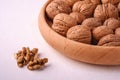
<svg viewBox="0 0 120 80"><path fill-rule="evenodd" d="M81 24L82 21L86 18L82 13L78 13L78 12L72 12L70 13L70 16L76 19L78 24Z"/></svg>

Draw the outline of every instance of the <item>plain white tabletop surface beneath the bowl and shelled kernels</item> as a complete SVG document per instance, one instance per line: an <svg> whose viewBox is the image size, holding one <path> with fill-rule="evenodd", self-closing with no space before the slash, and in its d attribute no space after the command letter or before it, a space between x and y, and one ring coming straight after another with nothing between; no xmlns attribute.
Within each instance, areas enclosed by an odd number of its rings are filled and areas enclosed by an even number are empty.
<svg viewBox="0 0 120 80"><path fill-rule="evenodd" d="M71 60L51 48L38 30L46 0L0 0L0 80L120 80L120 66L96 66ZM44 70L18 68L14 53L38 47L48 57Z"/></svg>

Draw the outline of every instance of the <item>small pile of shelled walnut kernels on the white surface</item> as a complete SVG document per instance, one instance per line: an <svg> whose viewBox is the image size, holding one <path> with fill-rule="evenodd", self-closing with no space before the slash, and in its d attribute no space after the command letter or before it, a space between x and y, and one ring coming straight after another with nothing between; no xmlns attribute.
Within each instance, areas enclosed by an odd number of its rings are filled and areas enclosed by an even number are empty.
<svg viewBox="0 0 120 80"><path fill-rule="evenodd" d="M21 51L15 54L15 58L19 67L27 65L29 70L41 69L48 62L48 58L39 58L37 48L30 50L29 47L23 47Z"/></svg>

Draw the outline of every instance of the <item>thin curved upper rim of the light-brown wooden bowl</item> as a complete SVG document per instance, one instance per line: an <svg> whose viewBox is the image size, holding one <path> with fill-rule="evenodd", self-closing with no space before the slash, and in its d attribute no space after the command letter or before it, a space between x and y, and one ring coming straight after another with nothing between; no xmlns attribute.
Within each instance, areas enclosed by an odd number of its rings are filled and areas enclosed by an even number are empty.
<svg viewBox="0 0 120 80"><path fill-rule="evenodd" d="M60 34L58 34L57 32L55 32L52 28L50 28L50 25L47 23L46 21L46 6L53 0L48 0L46 1L46 3L43 5L40 13L41 15L38 16L38 24L39 24L39 21L40 21L40 18L42 17L43 21L45 22L45 25L47 25L47 27L52 30L55 34L57 34L58 36L64 38L64 39L67 39L69 41L71 41L72 43L75 43L75 44L82 44L83 46L90 46L90 47L95 47L95 48L101 48L101 49L120 49L120 46L98 46L98 45L91 45L91 44L85 44L85 43L81 43L81 42L77 42L77 41L74 41L74 40L70 40Z"/></svg>

